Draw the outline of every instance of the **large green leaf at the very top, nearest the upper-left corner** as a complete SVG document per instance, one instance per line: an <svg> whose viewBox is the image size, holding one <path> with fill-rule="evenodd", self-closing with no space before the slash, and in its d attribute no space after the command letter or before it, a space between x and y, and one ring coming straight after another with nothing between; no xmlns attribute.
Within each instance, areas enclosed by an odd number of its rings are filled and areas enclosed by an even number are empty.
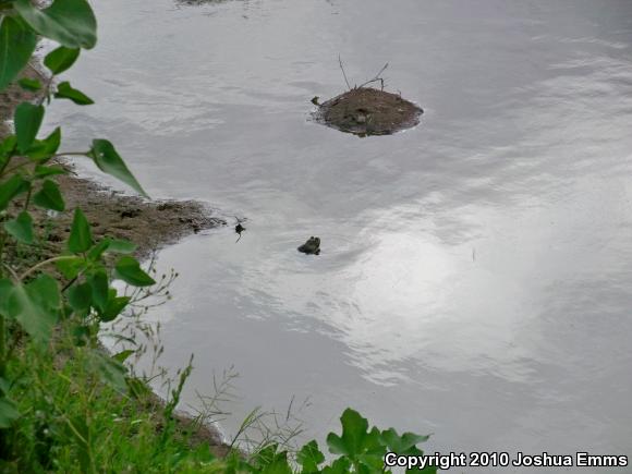
<svg viewBox="0 0 632 474"><path fill-rule="evenodd" d="M97 42L97 21L86 0L56 0L44 10L16 0L14 8L33 29L68 48L92 49Z"/></svg>

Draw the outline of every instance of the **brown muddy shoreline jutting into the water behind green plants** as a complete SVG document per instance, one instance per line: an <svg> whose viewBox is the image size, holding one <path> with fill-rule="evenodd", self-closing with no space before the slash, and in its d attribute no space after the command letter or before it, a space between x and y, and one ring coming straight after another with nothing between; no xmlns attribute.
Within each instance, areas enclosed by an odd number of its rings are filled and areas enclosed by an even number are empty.
<svg viewBox="0 0 632 474"><path fill-rule="evenodd" d="M44 76L36 65L29 65L22 77L41 80ZM24 90L16 84L0 93L0 141L11 133L9 121L13 117L15 107L22 101L36 99L36 94ZM186 235L227 223L223 219L212 216L212 209L203 203L174 199L149 200L123 194L90 179L80 177L71 162L61 161L60 165L69 171L68 174L57 178L65 200L65 210L51 215L32 206L29 211L34 221L39 224L38 233L41 235L35 244L38 248L34 252L33 258L41 260L63 252L70 234L73 210L76 207L81 207L86 215L96 240L105 235L130 240L137 245L136 256L142 259ZM15 208L8 210L9 214L13 214ZM8 250L8 254L11 257L11 248ZM17 260L23 257L15 259L20 263ZM159 413L163 403L158 396L151 394L139 409ZM179 429L192 434L192 445L206 442L217 455L226 455L229 449L217 428L200 425L195 417L184 412L177 412L173 416Z"/></svg>

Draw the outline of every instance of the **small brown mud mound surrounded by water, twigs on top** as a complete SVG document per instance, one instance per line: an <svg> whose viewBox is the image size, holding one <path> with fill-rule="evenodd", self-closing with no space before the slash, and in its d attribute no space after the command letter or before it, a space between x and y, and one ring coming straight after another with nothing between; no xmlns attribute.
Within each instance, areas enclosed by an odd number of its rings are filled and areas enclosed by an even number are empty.
<svg viewBox="0 0 632 474"><path fill-rule="evenodd" d="M369 87L345 92L318 107L317 121L360 136L390 135L420 123L421 107Z"/></svg>

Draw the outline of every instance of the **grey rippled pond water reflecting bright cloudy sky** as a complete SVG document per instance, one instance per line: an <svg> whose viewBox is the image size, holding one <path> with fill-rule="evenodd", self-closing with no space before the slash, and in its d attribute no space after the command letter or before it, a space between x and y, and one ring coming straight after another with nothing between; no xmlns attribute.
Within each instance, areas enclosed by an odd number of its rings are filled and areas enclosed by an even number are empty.
<svg viewBox="0 0 632 474"><path fill-rule="evenodd" d="M187 403L234 365L227 433L295 396L306 437L351 405L434 433L429 451L630 453L632 2L96 10L71 80L97 106L52 122L71 146L112 139L153 196L247 219L239 243L228 227L160 253L181 272L155 313L163 362L196 355ZM422 124L311 122L344 88L338 54L352 83L389 62ZM295 250L309 235L319 256Z"/></svg>

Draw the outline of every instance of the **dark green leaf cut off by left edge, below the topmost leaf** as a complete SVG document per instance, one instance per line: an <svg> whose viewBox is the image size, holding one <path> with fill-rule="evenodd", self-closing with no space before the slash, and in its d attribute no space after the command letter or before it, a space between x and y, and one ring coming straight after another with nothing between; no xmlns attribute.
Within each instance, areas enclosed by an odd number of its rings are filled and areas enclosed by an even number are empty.
<svg viewBox="0 0 632 474"><path fill-rule="evenodd" d="M11 84L35 51L37 35L24 22L3 15L0 24L0 90Z"/></svg>

